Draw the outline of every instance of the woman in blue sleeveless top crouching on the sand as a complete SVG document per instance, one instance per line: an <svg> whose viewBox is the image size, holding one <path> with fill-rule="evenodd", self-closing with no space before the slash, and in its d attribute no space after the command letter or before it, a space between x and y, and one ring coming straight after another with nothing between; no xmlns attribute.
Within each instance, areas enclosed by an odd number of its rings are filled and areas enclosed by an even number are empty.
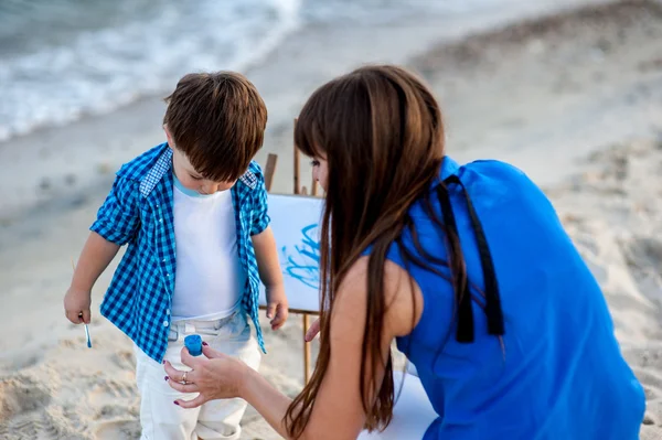
<svg viewBox="0 0 662 440"><path fill-rule="evenodd" d="M429 89L395 66L320 87L296 128L325 190L320 354L293 400L205 347L200 393L241 397L286 438L355 439L393 415L389 346L438 418L425 439L634 440L644 411L600 288L545 195L498 161L445 155Z"/></svg>

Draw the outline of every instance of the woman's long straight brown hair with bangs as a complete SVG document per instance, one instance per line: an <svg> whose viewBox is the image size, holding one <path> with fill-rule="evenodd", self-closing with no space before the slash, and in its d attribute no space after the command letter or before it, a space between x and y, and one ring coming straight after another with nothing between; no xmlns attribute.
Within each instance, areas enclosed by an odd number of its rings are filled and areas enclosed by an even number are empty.
<svg viewBox="0 0 662 440"><path fill-rule="evenodd" d="M299 115L295 142L306 155L327 159L328 182L320 230L320 353L310 383L288 408L285 422L292 438L300 437L308 423L329 367L335 292L371 246L362 355L372 365L362 363L361 398L366 428L381 429L391 421L394 404L391 353L386 365L377 364L385 357L384 262L388 247L410 226L409 207L439 173L441 112L414 74L397 66L365 66L312 94ZM366 371L380 367L386 369L382 383L365 377Z"/></svg>

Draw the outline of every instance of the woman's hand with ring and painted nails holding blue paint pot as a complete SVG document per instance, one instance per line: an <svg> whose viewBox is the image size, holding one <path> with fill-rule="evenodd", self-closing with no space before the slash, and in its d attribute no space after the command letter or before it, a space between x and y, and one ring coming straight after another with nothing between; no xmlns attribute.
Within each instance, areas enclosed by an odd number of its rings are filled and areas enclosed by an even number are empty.
<svg viewBox="0 0 662 440"><path fill-rule="evenodd" d="M180 393L200 393L193 400L179 399L174 404L182 408L196 408L210 400L242 397L243 384L253 369L204 344L202 353L204 356L191 356L186 347L182 348L182 363L191 367L190 372L181 372L170 362L164 362L166 380L171 388Z"/></svg>

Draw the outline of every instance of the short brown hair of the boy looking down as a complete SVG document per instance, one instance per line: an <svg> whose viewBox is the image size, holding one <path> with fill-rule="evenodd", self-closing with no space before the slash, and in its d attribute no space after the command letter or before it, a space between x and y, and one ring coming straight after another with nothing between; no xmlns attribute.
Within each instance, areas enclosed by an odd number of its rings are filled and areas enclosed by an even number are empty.
<svg viewBox="0 0 662 440"><path fill-rule="evenodd" d="M195 171L216 182L237 180L261 148L267 107L235 72L188 74L166 98L163 124Z"/></svg>

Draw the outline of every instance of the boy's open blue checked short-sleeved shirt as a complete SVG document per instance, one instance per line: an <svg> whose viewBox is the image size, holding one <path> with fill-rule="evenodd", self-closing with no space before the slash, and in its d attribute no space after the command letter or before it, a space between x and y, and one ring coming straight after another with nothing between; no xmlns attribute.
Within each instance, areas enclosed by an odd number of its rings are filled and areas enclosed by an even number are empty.
<svg viewBox="0 0 662 440"><path fill-rule="evenodd" d="M129 245L102 302L102 314L159 363L168 346L175 277L171 170L172 150L167 143L126 163L90 227L108 242ZM250 240L269 225L259 165L252 162L231 191L237 250L247 275L242 305L253 319L265 351L258 322L260 281Z"/></svg>

